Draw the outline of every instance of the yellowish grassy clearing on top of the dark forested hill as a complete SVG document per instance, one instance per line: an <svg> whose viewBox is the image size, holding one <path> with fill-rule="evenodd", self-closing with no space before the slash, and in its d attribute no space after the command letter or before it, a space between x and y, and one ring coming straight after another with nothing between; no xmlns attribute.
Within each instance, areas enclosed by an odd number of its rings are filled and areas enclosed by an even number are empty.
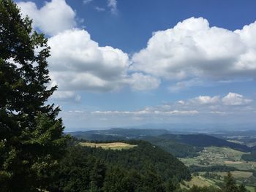
<svg viewBox="0 0 256 192"><path fill-rule="evenodd" d="M138 145L130 145L124 142L110 142L110 143L94 143L94 142L80 142L79 145L84 147L102 147L110 150L128 150Z"/></svg>

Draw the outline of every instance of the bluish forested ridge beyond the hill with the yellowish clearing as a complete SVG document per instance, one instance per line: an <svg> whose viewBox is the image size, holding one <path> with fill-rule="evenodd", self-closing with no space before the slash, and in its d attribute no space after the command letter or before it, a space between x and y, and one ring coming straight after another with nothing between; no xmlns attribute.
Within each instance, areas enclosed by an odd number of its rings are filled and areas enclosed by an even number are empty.
<svg viewBox="0 0 256 192"><path fill-rule="evenodd" d="M195 156L203 147L230 147L250 152L251 148L207 134L172 134L165 129L110 128L107 130L78 131L69 133L89 141L146 140L177 157Z"/></svg>

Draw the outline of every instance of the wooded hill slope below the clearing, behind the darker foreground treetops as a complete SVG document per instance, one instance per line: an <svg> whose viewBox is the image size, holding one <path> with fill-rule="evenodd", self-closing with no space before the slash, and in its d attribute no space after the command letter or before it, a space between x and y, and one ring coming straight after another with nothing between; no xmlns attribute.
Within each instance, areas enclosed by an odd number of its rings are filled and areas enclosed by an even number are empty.
<svg viewBox="0 0 256 192"><path fill-rule="evenodd" d="M118 164L126 169L135 169L140 172L146 172L146 169L152 166L164 180L170 177L177 177L178 180L190 177L187 166L165 150L144 141L131 144L136 144L138 147L121 151L91 147L86 147L85 150L113 166Z"/></svg>

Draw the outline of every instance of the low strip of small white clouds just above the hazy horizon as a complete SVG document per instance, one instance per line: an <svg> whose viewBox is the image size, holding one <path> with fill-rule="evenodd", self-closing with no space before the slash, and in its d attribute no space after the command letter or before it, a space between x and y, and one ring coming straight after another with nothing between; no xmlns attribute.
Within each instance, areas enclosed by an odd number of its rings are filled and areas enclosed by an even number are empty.
<svg viewBox="0 0 256 192"><path fill-rule="evenodd" d="M197 96L186 101L179 100L170 104L146 107L138 111L94 111L96 115L199 115L216 113L219 115L240 113L254 107L252 99L238 93L227 93L226 96Z"/></svg>

